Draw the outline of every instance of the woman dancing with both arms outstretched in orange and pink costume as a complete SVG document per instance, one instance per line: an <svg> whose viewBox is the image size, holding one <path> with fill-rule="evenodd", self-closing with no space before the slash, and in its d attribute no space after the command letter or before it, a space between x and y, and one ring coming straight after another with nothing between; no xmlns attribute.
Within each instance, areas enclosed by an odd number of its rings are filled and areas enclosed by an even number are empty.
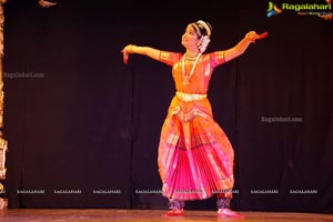
<svg viewBox="0 0 333 222"><path fill-rule="evenodd" d="M242 218L230 209L234 185L232 145L214 121L206 97L215 67L241 56L266 32L248 32L233 48L204 53L211 41L212 27L199 20L188 24L183 36L184 53L128 44L121 52L150 57L172 67L175 95L162 125L158 165L162 195L169 199L164 216L184 215L185 201L204 200L216 194L218 215Z"/></svg>

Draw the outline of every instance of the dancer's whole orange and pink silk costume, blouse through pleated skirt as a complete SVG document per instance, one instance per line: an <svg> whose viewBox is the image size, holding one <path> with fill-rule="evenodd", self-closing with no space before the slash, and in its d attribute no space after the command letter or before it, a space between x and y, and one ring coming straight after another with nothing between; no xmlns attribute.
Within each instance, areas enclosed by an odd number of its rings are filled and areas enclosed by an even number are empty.
<svg viewBox="0 0 333 222"><path fill-rule="evenodd" d="M234 153L226 134L214 121L206 98L212 71L225 62L223 51L202 54L190 79L185 75L193 61L183 57L176 52L160 53L160 61L172 67L176 89L159 143L162 195L181 201L214 194L231 198Z"/></svg>

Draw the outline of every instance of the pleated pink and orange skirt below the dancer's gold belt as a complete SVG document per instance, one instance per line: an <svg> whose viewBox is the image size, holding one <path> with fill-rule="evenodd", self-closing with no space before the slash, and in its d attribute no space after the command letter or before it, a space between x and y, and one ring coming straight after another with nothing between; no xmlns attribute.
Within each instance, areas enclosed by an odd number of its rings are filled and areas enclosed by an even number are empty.
<svg viewBox="0 0 333 222"><path fill-rule="evenodd" d="M210 102L174 98L159 144L162 194L203 200L233 188L233 149L213 120Z"/></svg>

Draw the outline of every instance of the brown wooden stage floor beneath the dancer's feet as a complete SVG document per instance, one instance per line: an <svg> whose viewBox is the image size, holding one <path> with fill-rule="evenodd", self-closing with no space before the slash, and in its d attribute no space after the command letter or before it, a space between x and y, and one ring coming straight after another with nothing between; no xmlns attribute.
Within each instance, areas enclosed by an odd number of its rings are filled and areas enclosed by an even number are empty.
<svg viewBox="0 0 333 222"><path fill-rule="evenodd" d="M332 222L333 214L320 213L284 213L284 212L240 212L244 219L216 218L214 211L185 211L185 216L162 218L161 210L114 210L114 209L6 209L0 210L0 221L16 222Z"/></svg>

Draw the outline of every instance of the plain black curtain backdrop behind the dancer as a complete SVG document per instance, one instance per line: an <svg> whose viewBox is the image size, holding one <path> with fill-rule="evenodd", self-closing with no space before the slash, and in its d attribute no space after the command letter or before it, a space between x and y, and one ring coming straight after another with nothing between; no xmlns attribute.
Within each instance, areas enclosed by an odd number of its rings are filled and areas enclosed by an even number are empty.
<svg viewBox="0 0 333 222"><path fill-rule="evenodd" d="M124 65L120 51L135 43L183 52L186 24L203 19L213 27L208 51L269 31L211 80L214 119L235 151L232 206L333 212L333 20L268 9L264 0L59 0L50 9L9 0L9 208L167 209L157 155L171 68L140 56ZM215 210L214 201L186 208Z"/></svg>

